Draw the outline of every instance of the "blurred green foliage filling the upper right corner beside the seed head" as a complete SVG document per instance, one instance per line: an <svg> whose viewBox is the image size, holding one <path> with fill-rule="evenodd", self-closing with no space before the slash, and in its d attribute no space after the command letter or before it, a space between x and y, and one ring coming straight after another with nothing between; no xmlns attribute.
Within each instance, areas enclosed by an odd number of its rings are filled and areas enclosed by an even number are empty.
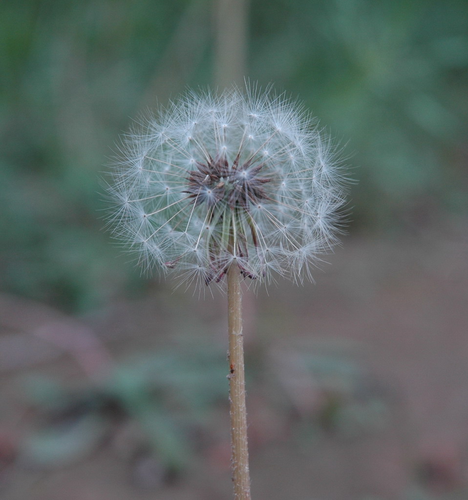
<svg viewBox="0 0 468 500"><path fill-rule="evenodd" d="M265 15L262 2L252 7L252 76L297 91L356 151L353 218L388 227L440 203L466 210L466 2L285 0Z"/></svg>

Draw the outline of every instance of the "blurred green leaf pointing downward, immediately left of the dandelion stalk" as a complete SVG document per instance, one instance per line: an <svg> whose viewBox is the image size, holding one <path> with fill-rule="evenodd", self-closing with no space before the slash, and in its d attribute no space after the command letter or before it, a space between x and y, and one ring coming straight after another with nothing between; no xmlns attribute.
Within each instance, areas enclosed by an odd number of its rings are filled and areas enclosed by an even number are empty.
<svg viewBox="0 0 468 500"><path fill-rule="evenodd" d="M186 465L188 433L204 425L210 403L227 394L220 354L200 340L195 346L166 348L120 364L109 391L135 419L157 456L169 468Z"/></svg>

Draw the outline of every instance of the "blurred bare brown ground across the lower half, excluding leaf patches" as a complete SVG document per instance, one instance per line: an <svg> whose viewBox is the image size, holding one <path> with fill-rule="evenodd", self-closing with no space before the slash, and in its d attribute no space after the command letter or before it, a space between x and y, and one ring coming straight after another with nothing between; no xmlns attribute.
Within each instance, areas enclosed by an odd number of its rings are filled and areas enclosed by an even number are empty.
<svg viewBox="0 0 468 500"><path fill-rule="evenodd" d="M394 240L346 237L343 247L329 256L332 265L322 266L326 272L315 272L315 284L298 287L280 281L267 293L245 293L247 362L255 362L252 353L256 352L271 360L269 366L262 365L264 378L255 378L260 383L247 387L253 498L466 497L467 229L466 221L446 220ZM63 318L58 313L51 317L52 309L15 300L0 298L1 498L230 498L224 407L212 412L207 443L187 470L169 483L135 480L135 470L122 451L127 445L122 429L67 466L43 470L28 467L17 458L18 443L33 418L16 392L18 379L45 373L64 383L99 383L100 363L108 361L106 356L118 361L127 352L157 350L170 342L174 328L184 324L203 331L208 341L222 349L224 297L198 300L190 293L171 292L168 285L155 285L144 299L111 304L100 315L86 319ZM91 340L87 338L84 347L78 348L81 354L76 355L75 349L70 356L69 345L57 345L50 337L37 334L41 323L57 318L67 321L69 331L81 328L85 338L91 332ZM33 333L31 329L35 329ZM369 375L368 386L362 390L376 392L386 410L382 421L368 431L364 428L349 434L325 429L307 440L307 433L293 430L295 417L290 412L275 411L274 405L265 404L268 398L281 397L279 382L271 374L281 353L290 354L304 345L320 349L330 344L358 359ZM68 353L63 354L67 348ZM96 355L96 349L97 358L89 361L86 353ZM277 368L283 370L284 366ZM93 377L94 382L89 382ZM276 388L277 394L272 395ZM315 404L316 394L300 390L298 394L295 411L300 414L301 405ZM157 464L146 465L145 469L144 463L139 464L137 476L157 477ZM419 496L411 496L412 491Z"/></svg>

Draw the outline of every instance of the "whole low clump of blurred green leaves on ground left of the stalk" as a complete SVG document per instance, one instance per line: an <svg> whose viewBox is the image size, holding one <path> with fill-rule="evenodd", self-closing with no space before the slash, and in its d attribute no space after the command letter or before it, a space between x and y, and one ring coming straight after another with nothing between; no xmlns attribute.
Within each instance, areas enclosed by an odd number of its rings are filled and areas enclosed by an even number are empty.
<svg viewBox="0 0 468 500"><path fill-rule="evenodd" d="M130 439L135 454L157 455L167 471L187 466L194 452L189 436L207 430L206 415L225 401L227 387L224 352L202 341L187 344L121 362L97 386L23 379L20 392L34 424L21 439L20 461L40 468L72 463L130 424L137 428Z"/></svg>

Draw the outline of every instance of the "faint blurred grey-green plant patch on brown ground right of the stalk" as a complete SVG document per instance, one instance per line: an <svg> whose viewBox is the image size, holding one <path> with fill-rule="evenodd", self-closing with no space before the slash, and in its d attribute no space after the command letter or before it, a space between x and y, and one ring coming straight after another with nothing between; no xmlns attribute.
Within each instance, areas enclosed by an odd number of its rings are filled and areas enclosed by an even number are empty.
<svg viewBox="0 0 468 500"><path fill-rule="evenodd" d="M274 366L271 376L283 389L276 396L294 415L300 442L322 431L362 435L388 422L386 387L342 348L288 340L272 349L268 365Z"/></svg>

